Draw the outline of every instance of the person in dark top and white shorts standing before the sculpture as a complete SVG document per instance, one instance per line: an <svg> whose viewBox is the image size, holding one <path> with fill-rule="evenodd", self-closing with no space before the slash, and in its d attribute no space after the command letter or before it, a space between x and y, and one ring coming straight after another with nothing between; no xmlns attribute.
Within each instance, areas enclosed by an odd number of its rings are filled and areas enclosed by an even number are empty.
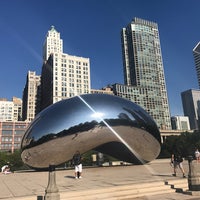
<svg viewBox="0 0 200 200"><path fill-rule="evenodd" d="M81 154L79 151L76 151L72 158L72 163L75 167L75 179L82 178L82 163L81 163Z"/></svg>

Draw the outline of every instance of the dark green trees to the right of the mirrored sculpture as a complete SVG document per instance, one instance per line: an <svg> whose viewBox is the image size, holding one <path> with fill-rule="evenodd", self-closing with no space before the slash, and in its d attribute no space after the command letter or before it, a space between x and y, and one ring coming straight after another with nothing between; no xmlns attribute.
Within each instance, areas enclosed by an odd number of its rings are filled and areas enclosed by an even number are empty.
<svg viewBox="0 0 200 200"><path fill-rule="evenodd" d="M161 147L160 158L169 158L173 152L179 152L183 157L194 156L196 149L200 149L200 132L184 132L180 136L169 136Z"/></svg>

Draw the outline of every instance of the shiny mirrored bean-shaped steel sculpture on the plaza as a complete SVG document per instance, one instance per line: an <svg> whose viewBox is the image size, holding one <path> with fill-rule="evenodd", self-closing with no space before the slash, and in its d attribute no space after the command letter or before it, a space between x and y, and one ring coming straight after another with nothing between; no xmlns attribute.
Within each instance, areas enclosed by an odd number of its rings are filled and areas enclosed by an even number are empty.
<svg viewBox="0 0 200 200"><path fill-rule="evenodd" d="M144 164L160 153L154 120L135 103L114 95L85 94L59 101L39 113L26 130L21 157L44 169L96 150L121 161Z"/></svg>

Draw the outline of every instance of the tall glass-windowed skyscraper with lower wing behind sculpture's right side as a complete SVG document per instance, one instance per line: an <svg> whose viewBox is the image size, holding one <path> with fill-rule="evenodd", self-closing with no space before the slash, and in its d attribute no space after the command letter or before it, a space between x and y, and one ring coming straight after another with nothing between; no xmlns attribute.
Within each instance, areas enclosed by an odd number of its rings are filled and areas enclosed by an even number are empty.
<svg viewBox="0 0 200 200"><path fill-rule="evenodd" d="M159 128L171 129L158 25L134 18L121 42L125 85L115 84L115 94L142 106Z"/></svg>

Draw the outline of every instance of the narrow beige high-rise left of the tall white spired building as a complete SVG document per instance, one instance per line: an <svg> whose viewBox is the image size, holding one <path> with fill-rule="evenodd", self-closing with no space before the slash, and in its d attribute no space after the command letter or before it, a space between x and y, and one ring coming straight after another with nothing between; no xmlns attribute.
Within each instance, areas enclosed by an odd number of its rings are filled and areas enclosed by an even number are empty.
<svg viewBox="0 0 200 200"><path fill-rule="evenodd" d="M29 71L23 91L23 121L32 121L40 110L40 75Z"/></svg>

